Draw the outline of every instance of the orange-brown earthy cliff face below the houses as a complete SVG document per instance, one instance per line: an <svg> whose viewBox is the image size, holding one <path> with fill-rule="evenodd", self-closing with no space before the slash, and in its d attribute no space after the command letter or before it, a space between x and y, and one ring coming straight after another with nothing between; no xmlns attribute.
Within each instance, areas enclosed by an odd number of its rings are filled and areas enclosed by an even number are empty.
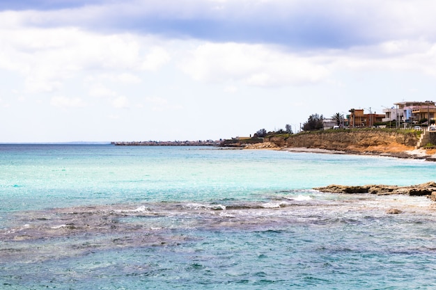
<svg viewBox="0 0 436 290"><path fill-rule="evenodd" d="M286 140L272 137L267 141L275 143L279 147L307 147L354 152L395 153L413 150L418 141L418 136L413 132L403 134L379 130L353 130L295 134Z"/></svg>

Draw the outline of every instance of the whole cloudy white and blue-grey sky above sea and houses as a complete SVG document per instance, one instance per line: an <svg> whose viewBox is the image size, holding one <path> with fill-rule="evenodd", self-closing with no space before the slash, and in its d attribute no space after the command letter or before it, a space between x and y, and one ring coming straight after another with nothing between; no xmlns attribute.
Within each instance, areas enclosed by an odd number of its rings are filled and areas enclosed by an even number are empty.
<svg viewBox="0 0 436 290"><path fill-rule="evenodd" d="M2 0L0 143L219 140L436 101L428 0Z"/></svg>

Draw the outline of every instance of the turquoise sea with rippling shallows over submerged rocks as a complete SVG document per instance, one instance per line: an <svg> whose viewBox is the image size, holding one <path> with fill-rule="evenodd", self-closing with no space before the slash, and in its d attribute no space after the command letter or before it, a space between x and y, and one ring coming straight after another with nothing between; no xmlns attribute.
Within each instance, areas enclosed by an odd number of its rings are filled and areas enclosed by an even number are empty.
<svg viewBox="0 0 436 290"><path fill-rule="evenodd" d="M435 180L384 156L2 144L0 289L435 289L434 202L313 189Z"/></svg>

